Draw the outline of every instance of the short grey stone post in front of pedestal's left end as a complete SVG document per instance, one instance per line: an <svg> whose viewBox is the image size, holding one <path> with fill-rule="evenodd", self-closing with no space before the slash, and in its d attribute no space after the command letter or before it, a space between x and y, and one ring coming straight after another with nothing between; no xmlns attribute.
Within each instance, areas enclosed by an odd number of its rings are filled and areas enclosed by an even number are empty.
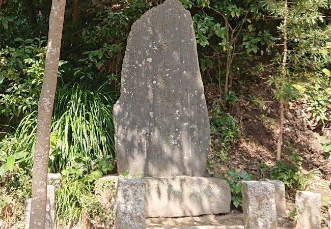
<svg viewBox="0 0 331 229"><path fill-rule="evenodd" d="M144 229L145 182L119 178L115 201L115 229Z"/></svg>

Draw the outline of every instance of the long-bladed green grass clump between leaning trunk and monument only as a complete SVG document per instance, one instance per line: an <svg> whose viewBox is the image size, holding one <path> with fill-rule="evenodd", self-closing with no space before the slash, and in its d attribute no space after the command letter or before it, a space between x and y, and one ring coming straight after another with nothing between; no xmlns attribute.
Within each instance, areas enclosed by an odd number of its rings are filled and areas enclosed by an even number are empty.
<svg viewBox="0 0 331 229"><path fill-rule="evenodd" d="M113 159L113 98L111 93L88 90L76 83L58 91L51 133L51 170L70 167L77 153Z"/></svg>

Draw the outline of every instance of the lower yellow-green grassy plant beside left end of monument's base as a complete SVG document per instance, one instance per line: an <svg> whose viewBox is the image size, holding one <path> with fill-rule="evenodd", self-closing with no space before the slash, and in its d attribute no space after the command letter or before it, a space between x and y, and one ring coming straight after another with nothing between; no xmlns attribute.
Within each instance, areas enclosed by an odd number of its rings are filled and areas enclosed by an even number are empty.
<svg viewBox="0 0 331 229"><path fill-rule="evenodd" d="M77 222L86 212L102 210L93 192L95 182L114 168L107 159L76 154L71 167L62 170L63 177L56 193L57 216L61 223ZM91 205L99 209L89 210Z"/></svg>

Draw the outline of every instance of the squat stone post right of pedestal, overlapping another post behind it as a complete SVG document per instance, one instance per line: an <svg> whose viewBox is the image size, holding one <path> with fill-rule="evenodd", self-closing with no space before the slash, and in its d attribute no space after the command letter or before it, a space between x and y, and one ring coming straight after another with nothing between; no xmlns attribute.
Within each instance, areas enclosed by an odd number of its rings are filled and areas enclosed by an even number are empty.
<svg viewBox="0 0 331 229"><path fill-rule="evenodd" d="M242 210L245 229L277 228L274 185L264 181L243 181Z"/></svg>

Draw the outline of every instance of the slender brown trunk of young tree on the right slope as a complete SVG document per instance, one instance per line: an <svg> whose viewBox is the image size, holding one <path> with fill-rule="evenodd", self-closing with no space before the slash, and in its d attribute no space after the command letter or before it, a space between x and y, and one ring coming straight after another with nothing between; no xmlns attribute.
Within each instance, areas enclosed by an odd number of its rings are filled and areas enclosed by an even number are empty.
<svg viewBox="0 0 331 229"><path fill-rule="evenodd" d="M287 63L287 10L288 10L288 5L287 5L287 0L285 0L285 5L284 5L284 28L283 28L283 45L284 45L284 53L283 53L283 63L282 63L282 85L281 85L281 90L283 90L283 87L285 85L286 81L286 63ZM279 128L279 136L278 136L278 142L277 142L277 160L281 159L281 153L282 153L282 144L283 144L283 129L284 129L284 98L280 98L280 116L281 116L281 122L280 122L280 128Z"/></svg>

